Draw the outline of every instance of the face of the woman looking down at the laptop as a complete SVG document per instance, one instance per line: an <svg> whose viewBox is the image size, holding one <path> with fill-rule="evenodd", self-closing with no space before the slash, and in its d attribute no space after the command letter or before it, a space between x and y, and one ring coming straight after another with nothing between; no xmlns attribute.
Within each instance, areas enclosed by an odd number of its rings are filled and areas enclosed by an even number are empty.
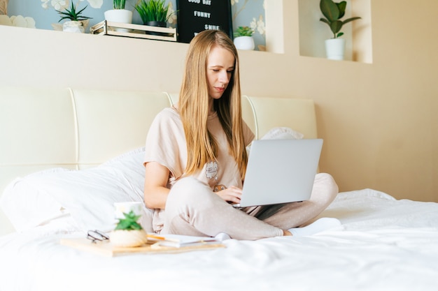
<svg viewBox="0 0 438 291"><path fill-rule="evenodd" d="M234 55L218 45L213 45L207 60L207 82L209 96L213 99L222 97L227 89L234 70Z"/></svg>

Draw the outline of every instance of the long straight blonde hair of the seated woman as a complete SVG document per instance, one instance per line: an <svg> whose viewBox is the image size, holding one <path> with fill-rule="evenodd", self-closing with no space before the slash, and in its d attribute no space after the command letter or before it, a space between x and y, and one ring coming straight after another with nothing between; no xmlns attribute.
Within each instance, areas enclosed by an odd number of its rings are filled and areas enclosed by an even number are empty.
<svg viewBox="0 0 438 291"><path fill-rule="evenodd" d="M209 115L206 66L213 45L225 48L234 55L234 71L228 87L221 98L214 100L213 107L218 112L220 124L227 136L229 153L234 157L243 179L248 156L243 140L239 57L236 47L227 34L216 30L198 33L190 42L185 59L185 73L178 103L187 141L188 161L185 174L202 170L205 163L216 160L218 153L218 144L206 126Z"/></svg>

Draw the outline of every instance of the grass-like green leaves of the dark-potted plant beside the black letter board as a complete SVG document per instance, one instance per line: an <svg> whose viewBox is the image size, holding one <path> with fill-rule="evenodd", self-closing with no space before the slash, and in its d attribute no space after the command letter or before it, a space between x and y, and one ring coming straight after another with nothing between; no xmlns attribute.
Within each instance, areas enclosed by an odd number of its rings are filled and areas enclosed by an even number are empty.
<svg viewBox="0 0 438 291"><path fill-rule="evenodd" d="M170 3L164 0L139 0L134 8L139 13L143 24L150 21L167 22L173 13L169 13Z"/></svg>

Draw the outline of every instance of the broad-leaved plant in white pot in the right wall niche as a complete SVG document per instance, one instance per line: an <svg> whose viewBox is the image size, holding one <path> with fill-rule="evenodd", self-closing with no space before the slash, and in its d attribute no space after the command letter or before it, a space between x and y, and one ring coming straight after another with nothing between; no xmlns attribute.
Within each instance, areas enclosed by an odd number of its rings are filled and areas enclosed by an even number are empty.
<svg viewBox="0 0 438 291"><path fill-rule="evenodd" d="M351 17L342 21L341 18L345 15L346 6L346 1L335 3L332 0L320 0L320 10L325 17L320 18L320 21L326 23L333 33L333 38L325 40L327 59L344 59L345 39L339 38L339 36L344 35L341 29L344 24L360 19L360 17Z"/></svg>

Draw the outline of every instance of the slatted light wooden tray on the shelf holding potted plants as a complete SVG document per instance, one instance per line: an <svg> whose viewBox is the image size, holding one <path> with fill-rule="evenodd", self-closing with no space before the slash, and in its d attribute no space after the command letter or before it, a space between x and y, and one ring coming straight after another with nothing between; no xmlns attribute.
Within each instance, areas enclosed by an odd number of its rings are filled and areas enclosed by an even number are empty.
<svg viewBox="0 0 438 291"><path fill-rule="evenodd" d="M90 27L90 32L97 35L176 41L176 29L168 27L150 27L148 25L140 24L108 22L107 20L94 24Z"/></svg>

